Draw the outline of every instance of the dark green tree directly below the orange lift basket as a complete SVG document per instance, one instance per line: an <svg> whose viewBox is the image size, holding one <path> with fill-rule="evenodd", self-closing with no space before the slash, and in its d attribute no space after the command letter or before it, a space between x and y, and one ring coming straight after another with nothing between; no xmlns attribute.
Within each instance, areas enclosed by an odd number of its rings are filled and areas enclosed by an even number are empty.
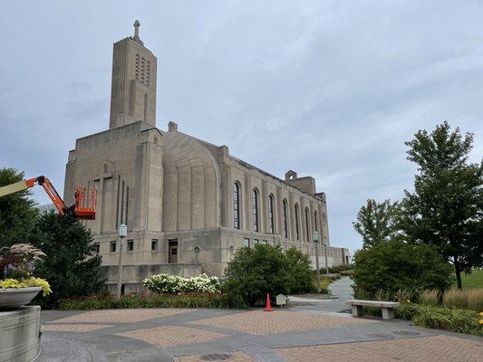
<svg viewBox="0 0 483 362"><path fill-rule="evenodd" d="M35 275L46 279L53 293L37 301L55 308L64 298L101 290L101 256L94 255L92 235L70 215L43 214L34 226L31 243L47 255L35 265Z"/></svg>

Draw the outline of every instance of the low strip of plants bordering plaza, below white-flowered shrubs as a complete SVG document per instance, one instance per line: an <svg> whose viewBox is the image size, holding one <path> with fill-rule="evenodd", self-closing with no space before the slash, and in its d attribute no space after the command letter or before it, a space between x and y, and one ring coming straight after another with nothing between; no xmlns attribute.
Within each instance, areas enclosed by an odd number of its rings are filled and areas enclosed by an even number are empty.
<svg viewBox="0 0 483 362"><path fill-rule="evenodd" d="M130 294L115 298L100 294L61 300L59 310L107 310L131 308L231 308L232 301L220 293Z"/></svg>

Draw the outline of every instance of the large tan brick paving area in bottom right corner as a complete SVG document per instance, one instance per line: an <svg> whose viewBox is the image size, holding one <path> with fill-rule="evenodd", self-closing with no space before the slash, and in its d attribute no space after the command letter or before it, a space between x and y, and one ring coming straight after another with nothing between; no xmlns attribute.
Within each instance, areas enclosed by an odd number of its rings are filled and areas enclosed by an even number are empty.
<svg viewBox="0 0 483 362"><path fill-rule="evenodd" d="M279 348L289 362L481 362L483 343L449 336Z"/></svg>

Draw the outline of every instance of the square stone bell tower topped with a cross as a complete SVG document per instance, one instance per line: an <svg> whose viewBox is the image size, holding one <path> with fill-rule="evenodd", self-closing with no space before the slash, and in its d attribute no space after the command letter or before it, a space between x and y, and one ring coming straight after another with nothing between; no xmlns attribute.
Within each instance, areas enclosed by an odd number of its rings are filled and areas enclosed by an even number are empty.
<svg viewBox="0 0 483 362"><path fill-rule="evenodd" d="M157 59L134 35L114 43L112 52L111 115L109 129L143 120L156 127Z"/></svg>

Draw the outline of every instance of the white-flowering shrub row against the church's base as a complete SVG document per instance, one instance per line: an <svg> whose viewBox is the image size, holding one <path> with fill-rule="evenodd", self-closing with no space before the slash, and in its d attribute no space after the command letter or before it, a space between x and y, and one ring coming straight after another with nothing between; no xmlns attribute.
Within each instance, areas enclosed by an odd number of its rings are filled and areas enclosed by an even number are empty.
<svg viewBox="0 0 483 362"><path fill-rule="evenodd" d="M220 292L220 282L217 277L201 274L198 277L183 278L165 273L153 275L143 281L144 286L154 293L217 293Z"/></svg>

